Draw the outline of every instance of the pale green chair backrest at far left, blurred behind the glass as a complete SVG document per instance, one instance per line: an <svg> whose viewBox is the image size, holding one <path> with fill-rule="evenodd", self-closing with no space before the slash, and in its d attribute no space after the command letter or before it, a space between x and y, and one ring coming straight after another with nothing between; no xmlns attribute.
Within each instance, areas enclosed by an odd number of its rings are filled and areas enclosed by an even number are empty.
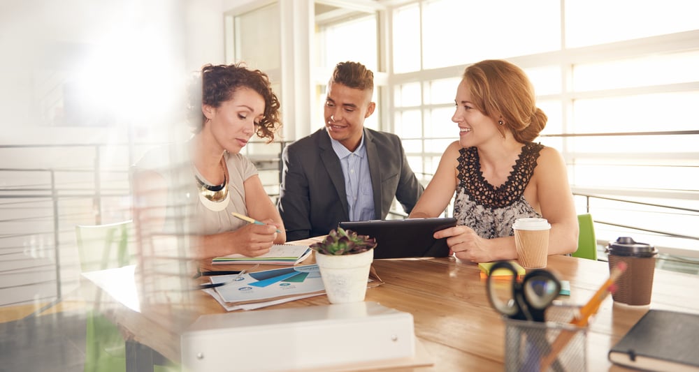
<svg viewBox="0 0 699 372"><path fill-rule="evenodd" d="M134 263L133 230L132 220L75 226L80 271L111 269Z"/></svg>

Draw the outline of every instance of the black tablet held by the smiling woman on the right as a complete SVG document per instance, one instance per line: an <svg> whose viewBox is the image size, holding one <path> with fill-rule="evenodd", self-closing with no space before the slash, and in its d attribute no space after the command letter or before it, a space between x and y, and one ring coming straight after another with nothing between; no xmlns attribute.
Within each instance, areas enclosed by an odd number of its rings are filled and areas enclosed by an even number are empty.
<svg viewBox="0 0 699 372"><path fill-rule="evenodd" d="M447 239L435 239L432 235L456 226L456 218L340 222L339 226L375 238L374 258L446 257Z"/></svg>

